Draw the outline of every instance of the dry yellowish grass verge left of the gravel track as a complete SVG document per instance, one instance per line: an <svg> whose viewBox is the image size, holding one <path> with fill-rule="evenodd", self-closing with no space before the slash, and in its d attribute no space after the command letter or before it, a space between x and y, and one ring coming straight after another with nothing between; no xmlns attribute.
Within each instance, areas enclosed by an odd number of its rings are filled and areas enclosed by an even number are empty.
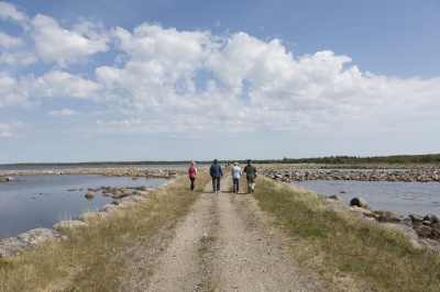
<svg viewBox="0 0 440 292"><path fill-rule="evenodd" d="M89 227L66 231L68 240L47 243L0 260L0 291L118 291L127 263L114 254L173 227L185 216L208 182L199 173L195 192L185 177L147 200L88 221Z"/></svg>

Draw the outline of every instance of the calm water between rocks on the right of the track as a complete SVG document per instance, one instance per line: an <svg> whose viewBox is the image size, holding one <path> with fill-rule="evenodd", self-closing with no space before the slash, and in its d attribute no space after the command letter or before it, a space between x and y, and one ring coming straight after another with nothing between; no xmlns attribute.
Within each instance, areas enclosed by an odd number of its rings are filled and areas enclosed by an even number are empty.
<svg viewBox="0 0 440 292"><path fill-rule="evenodd" d="M405 216L440 214L439 182L307 180L289 184L326 196L338 194L346 203L355 196L362 196L371 210L395 211Z"/></svg>

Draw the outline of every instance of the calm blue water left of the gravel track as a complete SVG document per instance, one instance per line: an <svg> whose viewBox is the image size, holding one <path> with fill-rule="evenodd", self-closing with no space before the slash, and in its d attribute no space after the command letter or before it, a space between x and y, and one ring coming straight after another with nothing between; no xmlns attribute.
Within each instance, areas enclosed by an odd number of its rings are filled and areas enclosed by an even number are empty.
<svg viewBox="0 0 440 292"><path fill-rule="evenodd" d="M28 169L28 168L26 168ZM52 169L52 168L51 168ZM85 211L97 210L113 201L100 192L87 200L88 188L155 187L165 179L101 177L90 175L13 176L19 181L0 182L0 239L14 237L36 227L52 228ZM68 191L82 189L82 191Z"/></svg>

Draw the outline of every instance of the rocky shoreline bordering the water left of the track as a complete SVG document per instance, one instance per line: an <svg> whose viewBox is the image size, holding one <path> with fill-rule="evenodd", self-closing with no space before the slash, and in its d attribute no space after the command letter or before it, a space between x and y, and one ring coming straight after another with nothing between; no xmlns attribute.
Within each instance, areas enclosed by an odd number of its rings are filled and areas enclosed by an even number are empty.
<svg viewBox="0 0 440 292"><path fill-rule="evenodd" d="M13 183L18 179L13 176L35 176L35 175L98 175L111 177L132 177L133 180L144 178L163 178L167 179L157 188L166 188L178 176L186 173L186 169L146 169L146 168L79 168L79 169L59 169L59 170L13 170L0 171L0 182ZM134 189L134 190L130 190ZM108 195L114 200L110 204L106 204L97 211L86 212L78 215L75 220L62 221L53 226L53 228L35 228L16 237L10 237L0 240L0 259L10 256L19 255L28 249L34 248L44 242L65 240L66 236L59 233L63 228L87 227L85 222L89 217L106 217L112 211L127 207L139 201L146 200L148 194L156 188L139 187L139 188L103 188L88 189L87 199L91 199L95 192L102 192L102 195ZM68 190L74 191L74 190Z"/></svg>

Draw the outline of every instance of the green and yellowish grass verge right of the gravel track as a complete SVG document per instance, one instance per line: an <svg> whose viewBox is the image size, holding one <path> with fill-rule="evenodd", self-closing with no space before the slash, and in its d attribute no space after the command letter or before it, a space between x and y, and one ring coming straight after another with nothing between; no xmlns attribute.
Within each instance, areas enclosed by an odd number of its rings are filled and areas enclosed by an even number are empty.
<svg viewBox="0 0 440 292"><path fill-rule="evenodd" d="M399 232L323 206L316 193L258 178L254 196L292 237L292 252L330 291L440 291L440 256ZM342 288L344 288L342 290Z"/></svg>

